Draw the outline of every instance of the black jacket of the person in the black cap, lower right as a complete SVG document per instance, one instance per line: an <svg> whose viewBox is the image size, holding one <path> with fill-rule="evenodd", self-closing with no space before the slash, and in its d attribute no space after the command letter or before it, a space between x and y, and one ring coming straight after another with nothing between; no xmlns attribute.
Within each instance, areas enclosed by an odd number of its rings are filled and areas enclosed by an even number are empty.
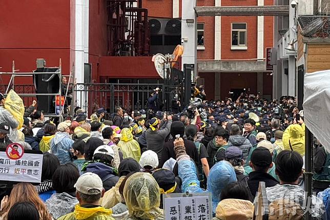
<svg viewBox="0 0 330 220"><path fill-rule="evenodd" d="M251 191L252 196L256 196L259 188L259 182L265 182L265 187L273 187L279 184L276 178L271 176L268 173L252 171L249 174L248 185Z"/></svg>

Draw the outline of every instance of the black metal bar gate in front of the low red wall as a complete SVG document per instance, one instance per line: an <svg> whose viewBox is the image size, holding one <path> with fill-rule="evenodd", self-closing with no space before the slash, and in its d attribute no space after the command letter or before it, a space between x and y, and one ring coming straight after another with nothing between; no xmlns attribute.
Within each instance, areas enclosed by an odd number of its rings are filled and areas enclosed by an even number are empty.
<svg viewBox="0 0 330 220"><path fill-rule="evenodd" d="M74 89L74 108L81 107L89 114L98 108L112 113L116 106L127 112L147 110L149 94L157 87L164 91L163 84L80 83ZM162 92L159 98L162 99Z"/></svg>

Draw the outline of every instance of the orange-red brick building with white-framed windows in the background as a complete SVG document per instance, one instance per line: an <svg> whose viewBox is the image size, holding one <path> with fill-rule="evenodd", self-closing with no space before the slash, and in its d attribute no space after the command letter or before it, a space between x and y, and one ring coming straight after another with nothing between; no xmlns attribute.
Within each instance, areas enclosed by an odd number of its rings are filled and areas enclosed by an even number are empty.
<svg viewBox="0 0 330 220"><path fill-rule="evenodd" d="M143 0L143 8L148 9L149 19L173 18L173 16L179 19L181 4L182 0ZM271 0L259 0L259 3L257 0L197 1L197 6L266 6L272 4ZM179 10L177 11L177 9ZM258 22L259 29L261 29L259 31ZM208 98L223 99L229 97L229 92L234 92L235 94L232 96L235 97L244 88L250 93L260 92L264 97L270 98L273 77L271 71L266 70L266 48L273 47L274 17L205 16L198 17L197 23L197 32L202 31L204 37L203 44L197 46L198 75L205 84ZM245 35L244 42L242 40L243 46L235 47L232 44L233 34L235 34L233 25L235 26L235 24L245 26L240 31L242 35ZM200 27L202 28L199 29Z"/></svg>

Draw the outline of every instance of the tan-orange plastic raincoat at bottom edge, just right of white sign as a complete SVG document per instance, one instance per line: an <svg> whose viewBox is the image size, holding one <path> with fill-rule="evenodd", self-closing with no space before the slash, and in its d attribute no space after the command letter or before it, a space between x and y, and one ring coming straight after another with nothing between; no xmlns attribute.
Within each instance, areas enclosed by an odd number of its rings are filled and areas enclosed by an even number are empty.
<svg viewBox="0 0 330 220"><path fill-rule="evenodd" d="M252 219L254 205L247 200L242 199L223 199L216 208L214 220L244 220Z"/></svg>

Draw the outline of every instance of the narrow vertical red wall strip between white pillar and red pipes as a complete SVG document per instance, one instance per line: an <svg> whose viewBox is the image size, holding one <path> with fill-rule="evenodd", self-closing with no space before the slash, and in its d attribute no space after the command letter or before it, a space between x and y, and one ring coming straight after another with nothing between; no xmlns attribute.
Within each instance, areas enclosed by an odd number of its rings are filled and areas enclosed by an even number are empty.
<svg viewBox="0 0 330 220"><path fill-rule="evenodd" d="M92 67L92 80L99 80L99 59L108 50L108 11L106 0L89 2L89 63Z"/></svg>

